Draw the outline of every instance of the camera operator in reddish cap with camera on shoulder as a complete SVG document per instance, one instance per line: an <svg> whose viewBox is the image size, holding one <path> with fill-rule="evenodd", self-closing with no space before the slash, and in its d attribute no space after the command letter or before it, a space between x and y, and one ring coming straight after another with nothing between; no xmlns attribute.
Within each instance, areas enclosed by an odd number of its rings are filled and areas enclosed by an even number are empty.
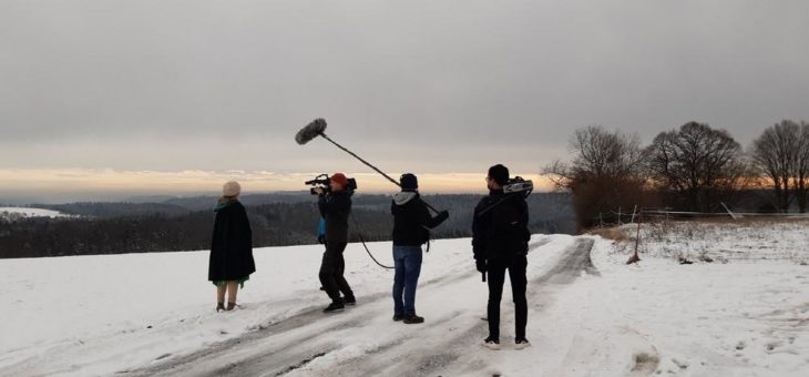
<svg viewBox="0 0 809 377"><path fill-rule="evenodd" d="M331 298L331 304L324 313L342 312L345 305L355 305L351 287L342 276L346 271L346 261L342 252L348 244L348 215L351 213L351 197L346 192L348 179L342 173L335 173L329 179L329 191L321 187L314 188L318 195L317 206L320 216L326 220L326 252L320 264L320 284ZM342 293L342 297L340 296Z"/></svg>

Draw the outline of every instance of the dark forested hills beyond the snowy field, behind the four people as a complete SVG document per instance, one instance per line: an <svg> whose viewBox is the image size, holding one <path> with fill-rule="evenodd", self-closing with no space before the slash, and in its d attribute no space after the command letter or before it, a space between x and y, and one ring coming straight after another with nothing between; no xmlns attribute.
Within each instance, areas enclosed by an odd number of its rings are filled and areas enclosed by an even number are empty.
<svg viewBox="0 0 809 377"><path fill-rule="evenodd" d="M429 195L424 198L438 208L450 211L450 218L433 233L434 238L471 235L472 210L480 195ZM206 207L214 202L215 198L208 197ZM245 202L249 203L250 200ZM351 241L359 241L360 234L366 241L390 240L390 197L356 195L354 203L356 223L351 221L350 224ZM529 205L533 232L575 232L575 218L567 194L532 194ZM0 221L0 257L206 249L213 232L214 214L211 210L188 211L180 206L181 211L131 203L84 203L51 207L83 217ZM133 214L109 215L127 207L134 211ZM294 200L288 203L246 204L246 207L255 247L313 244L316 241L319 213L313 197L306 202ZM143 208L156 211L145 213ZM90 214L94 214L94 217L88 217Z"/></svg>

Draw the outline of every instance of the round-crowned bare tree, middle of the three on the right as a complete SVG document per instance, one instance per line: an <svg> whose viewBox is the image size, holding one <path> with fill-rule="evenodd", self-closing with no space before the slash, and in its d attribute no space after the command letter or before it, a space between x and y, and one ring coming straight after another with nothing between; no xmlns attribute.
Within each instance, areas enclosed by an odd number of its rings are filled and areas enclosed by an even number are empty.
<svg viewBox="0 0 809 377"><path fill-rule="evenodd" d="M717 208L746 173L739 143L727 131L697 122L659 133L646 155L653 181L682 196L689 211Z"/></svg>

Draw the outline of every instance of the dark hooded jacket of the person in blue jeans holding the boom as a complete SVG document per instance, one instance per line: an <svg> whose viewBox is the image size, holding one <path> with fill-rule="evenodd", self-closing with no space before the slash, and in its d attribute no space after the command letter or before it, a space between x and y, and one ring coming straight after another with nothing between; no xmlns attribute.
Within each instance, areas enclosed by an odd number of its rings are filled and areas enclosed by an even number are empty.
<svg viewBox="0 0 809 377"><path fill-rule="evenodd" d="M417 192L402 191L390 203L393 214L393 245L421 246L430 240L430 231L443 223L449 214L444 211L431 217L427 204Z"/></svg>

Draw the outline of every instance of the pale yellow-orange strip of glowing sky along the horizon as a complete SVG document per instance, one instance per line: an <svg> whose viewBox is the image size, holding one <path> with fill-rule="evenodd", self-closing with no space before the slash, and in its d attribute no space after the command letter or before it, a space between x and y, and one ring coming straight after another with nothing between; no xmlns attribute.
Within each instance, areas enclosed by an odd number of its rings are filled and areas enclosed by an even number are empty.
<svg viewBox="0 0 809 377"><path fill-rule="evenodd" d="M331 174L332 172L328 172ZM376 173L344 172L357 179L360 193L393 193L398 188ZM319 173L278 173L270 171L117 171L88 170L0 170L0 201L3 197L37 196L48 198L65 193L79 196L125 195L199 195L216 194L227 181L238 181L244 194L280 191L305 191L304 181ZM398 179L401 173L389 173ZM419 190L432 193L484 193L485 172L419 173ZM552 190L551 182L540 174L512 173L532 180L537 191ZM105 198L102 198L105 200Z"/></svg>

